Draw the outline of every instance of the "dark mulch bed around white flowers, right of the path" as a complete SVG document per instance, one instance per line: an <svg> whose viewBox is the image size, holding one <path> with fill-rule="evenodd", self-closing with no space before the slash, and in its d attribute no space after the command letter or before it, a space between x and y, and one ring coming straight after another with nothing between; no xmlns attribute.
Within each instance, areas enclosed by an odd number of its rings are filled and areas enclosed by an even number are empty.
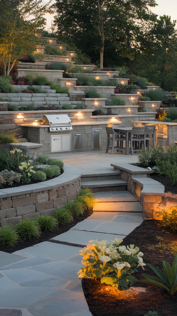
<svg viewBox="0 0 177 316"><path fill-rule="evenodd" d="M124 239L122 244L138 246L144 253L144 261L162 270L162 259L172 264L177 253L177 234L163 234L162 229L157 226L159 222L144 221ZM156 236L161 236L163 240L156 240ZM141 267L138 270L134 274L137 279L143 279L143 272L155 275L147 266L145 271ZM134 284L134 287L145 288L145 292L137 292L132 288L119 291L110 285L101 284L99 279L83 278L82 287L93 316L144 316L153 310L161 316L177 315L177 293L169 295L165 290L150 284Z"/></svg>

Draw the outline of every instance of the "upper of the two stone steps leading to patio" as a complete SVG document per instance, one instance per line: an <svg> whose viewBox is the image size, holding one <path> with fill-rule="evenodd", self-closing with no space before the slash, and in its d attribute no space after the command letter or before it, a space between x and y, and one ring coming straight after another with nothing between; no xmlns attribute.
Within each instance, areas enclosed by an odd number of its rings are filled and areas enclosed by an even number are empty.
<svg viewBox="0 0 177 316"><path fill-rule="evenodd" d="M121 179L120 172L105 172L105 173L82 173L81 175L81 182L87 182L87 181L100 181L100 180L116 180Z"/></svg>

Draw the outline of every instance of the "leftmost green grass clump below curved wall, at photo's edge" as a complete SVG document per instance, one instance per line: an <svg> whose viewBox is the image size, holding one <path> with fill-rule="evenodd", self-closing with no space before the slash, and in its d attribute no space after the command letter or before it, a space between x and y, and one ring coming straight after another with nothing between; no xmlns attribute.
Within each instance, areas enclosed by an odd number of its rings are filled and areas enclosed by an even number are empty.
<svg viewBox="0 0 177 316"><path fill-rule="evenodd" d="M4 225L0 227L0 246L13 247L19 241L19 236L13 226Z"/></svg>

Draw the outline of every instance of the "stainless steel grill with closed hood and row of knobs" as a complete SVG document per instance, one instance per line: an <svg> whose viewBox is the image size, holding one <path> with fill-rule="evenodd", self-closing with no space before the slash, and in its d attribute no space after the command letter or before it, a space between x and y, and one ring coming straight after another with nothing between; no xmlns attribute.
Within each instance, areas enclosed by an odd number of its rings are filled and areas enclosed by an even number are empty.
<svg viewBox="0 0 177 316"><path fill-rule="evenodd" d="M71 131L73 129L71 120L67 114L43 115L42 123L50 125L50 132Z"/></svg>

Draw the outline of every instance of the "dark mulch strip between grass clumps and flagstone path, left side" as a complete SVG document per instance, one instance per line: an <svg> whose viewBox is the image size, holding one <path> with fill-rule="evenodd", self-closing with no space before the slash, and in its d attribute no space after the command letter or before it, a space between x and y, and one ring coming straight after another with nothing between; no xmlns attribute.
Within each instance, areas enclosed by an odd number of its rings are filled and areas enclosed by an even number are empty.
<svg viewBox="0 0 177 316"><path fill-rule="evenodd" d="M21 250L23 248L36 245L36 244L38 244L40 242L48 241L48 240L50 240L50 238L53 238L53 237L55 237L57 235L60 235L62 233L67 232L71 227L73 227L77 223L83 221L88 216L90 216L92 213L93 213L93 210L86 210L85 213L82 216L75 217L74 221L71 222L70 224L59 224L58 227L55 230L53 230L53 231L47 230L45 232L42 232L42 234L41 234L41 236L39 238L32 238L32 240L20 241L14 247L8 247L8 248L7 247L6 248L0 247L0 251L12 253L14 251Z"/></svg>

